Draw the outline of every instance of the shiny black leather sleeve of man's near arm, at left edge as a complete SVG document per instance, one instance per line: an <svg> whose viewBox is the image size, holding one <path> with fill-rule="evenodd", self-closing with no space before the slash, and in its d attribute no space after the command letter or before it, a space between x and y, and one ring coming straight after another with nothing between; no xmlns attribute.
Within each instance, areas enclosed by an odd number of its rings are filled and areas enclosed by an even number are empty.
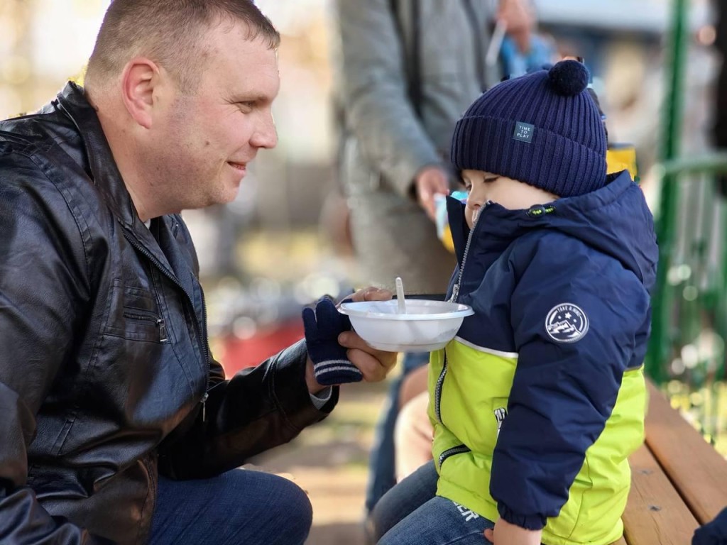
<svg viewBox="0 0 727 545"><path fill-rule="evenodd" d="M30 160L4 153L3 146L0 142L0 543L108 543L52 517L28 487L36 414L71 353L89 286L81 230L63 194Z"/></svg>

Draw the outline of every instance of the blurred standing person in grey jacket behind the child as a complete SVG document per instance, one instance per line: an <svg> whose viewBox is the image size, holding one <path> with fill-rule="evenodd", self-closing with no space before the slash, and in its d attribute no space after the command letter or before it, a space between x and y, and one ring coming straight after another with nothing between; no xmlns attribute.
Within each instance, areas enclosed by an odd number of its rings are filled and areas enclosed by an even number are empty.
<svg viewBox="0 0 727 545"><path fill-rule="evenodd" d="M443 296L454 255L437 238L435 195L456 185L454 124L502 76L488 55L495 20L521 49L534 15L527 0L337 0L340 178L361 279L408 294ZM499 44L494 44L495 52ZM403 373L426 362L407 355ZM424 355L428 356L428 355ZM370 510L395 484L392 435L398 383L371 455Z"/></svg>

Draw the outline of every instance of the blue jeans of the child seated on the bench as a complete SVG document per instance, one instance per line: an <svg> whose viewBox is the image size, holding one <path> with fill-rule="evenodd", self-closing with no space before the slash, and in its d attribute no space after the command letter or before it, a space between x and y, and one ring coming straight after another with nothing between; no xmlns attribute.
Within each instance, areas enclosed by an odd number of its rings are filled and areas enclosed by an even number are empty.
<svg viewBox="0 0 727 545"><path fill-rule="evenodd" d="M494 522L435 496L437 471L428 462L388 491L374 507L371 522L379 545L487 545Z"/></svg>

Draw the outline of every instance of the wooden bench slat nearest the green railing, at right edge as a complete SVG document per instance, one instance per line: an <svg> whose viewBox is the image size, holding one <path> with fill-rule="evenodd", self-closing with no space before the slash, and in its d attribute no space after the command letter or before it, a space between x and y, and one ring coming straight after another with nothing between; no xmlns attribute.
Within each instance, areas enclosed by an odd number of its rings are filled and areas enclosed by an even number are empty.
<svg viewBox="0 0 727 545"><path fill-rule="evenodd" d="M648 394L646 444L696 519L709 522L727 505L727 461L651 382Z"/></svg>

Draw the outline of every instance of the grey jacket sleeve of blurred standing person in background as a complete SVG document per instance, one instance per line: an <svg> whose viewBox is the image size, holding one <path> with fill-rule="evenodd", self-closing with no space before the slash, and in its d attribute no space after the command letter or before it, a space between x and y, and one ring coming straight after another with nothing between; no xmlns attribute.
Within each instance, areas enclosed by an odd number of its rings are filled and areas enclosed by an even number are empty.
<svg viewBox="0 0 727 545"><path fill-rule="evenodd" d="M361 151L402 195L425 166L442 164L414 112L389 0L337 0L340 100Z"/></svg>

